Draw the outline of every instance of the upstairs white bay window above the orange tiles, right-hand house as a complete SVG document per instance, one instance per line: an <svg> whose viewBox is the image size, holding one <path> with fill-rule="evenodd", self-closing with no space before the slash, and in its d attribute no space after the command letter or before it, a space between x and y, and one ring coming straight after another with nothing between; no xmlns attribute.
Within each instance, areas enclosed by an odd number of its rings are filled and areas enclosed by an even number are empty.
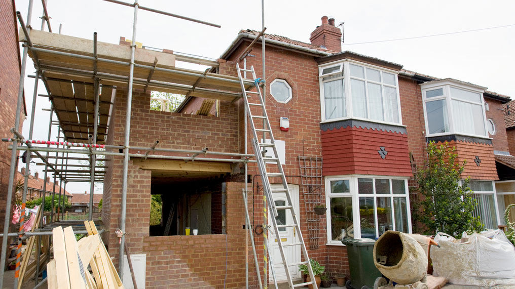
<svg viewBox="0 0 515 289"><path fill-rule="evenodd" d="M421 86L427 136L487 136L483 87L452 81L429 82Z"/></svg>

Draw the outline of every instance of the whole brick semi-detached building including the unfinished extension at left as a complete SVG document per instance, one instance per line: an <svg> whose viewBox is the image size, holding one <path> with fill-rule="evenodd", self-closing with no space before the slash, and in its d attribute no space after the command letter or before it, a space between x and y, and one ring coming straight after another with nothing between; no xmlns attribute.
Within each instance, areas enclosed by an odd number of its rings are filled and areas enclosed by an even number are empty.
<svg viewBox="0 0 515 289"><path fill-rule="evenodd" d="M47 32L30 33L36 46L54 45L60 51L64 49L60 45L77 40L54 34L55 42L45 43ZM241 94L235 93L241 89L235 78L236 64L253 66L257 77L264 75L261 41L245 61L238 61L258 34L240 31L220 59L202 62L213 67L204 73L175 68L175 61L188 58L173 51L136 48L140 58L135 60L139 66L134 70L131 103L127 103L126 78L113 76L126 73L127 65L103 63L93 68L91 59L71 63L70 58L40 54L47 69L44 75L52 76L45 80L49 96L64 94L55 98L57 106L64 105L59 99L75 98L79 107L83 93L86 100L93 99L90 92L99 72L99 123L104 130L97 139L102 144L105 140L109 152L102 172L101 212L109 233L102 238L110 256L119 262L121 239L113 232L122 227L120 216L125 210L127 248L138 257L133 263L142 269L136 278L144 278L146 288L170 284L244 287L247 257L250 282L256 283L252 248L245 245L246 207L263 273L265 268L270 272L264 264L265 236L273 257L269 260L274 261L270 266L279 281L285 280L286 272L279 264L278 240L289 245L288 263L302 261L295 243L299 232L287 227L293 218L285 209L279 209L277 217L285 225L280 236L263 232L270 224L264 215L263 182L255 163L248 162L247 173L244 169L247 154L254 154L253 134L249 124L245 127ZM311 33L311 43L273 34L265 34L265 38L266 108L276 138L276 157L283 164L308 253L327 272L349 275L347 248L341 243L344 238L376 238L390 229L413 231L410 203L417 195L410 187L417 168L424 164L427 141L448 141L456 147L459 160L467 160L463 177L472 179L479 203L475 214L489 228L502 224L503 205L496 188L503 181L496 165L500 156L510 154L504 115L497 107L508 103L509 97L476 84L431 77L400 64L341 51L341 32L334 19L325 16ZM59 43L59 39L70 41ZM92 42L73 41L79 42L84 46L77 44L73 49L91 53ZM111 58L124 59L122 52L128 55L125 44L105 47L99 50ZM109 55L116 51L120 55ZM153 74L153 70L144 70L149 67L163 69ZM95 73L91 73L93 69ZM152 75L155 79L149 81ZM211 90L215 88L217 91ZM177 112L153 111L152 91L182 93L186 98ZM251 97L249 101L255 104L258 100ZM129 147L124 147L128 106L130 138ZM79 123L77 117L87 114L87 110L58 111L60 118L70 120L66 121L70 127L91 127ZM63 131L68 141L88 139L86 130L63 125ZM208 154L212 152L214 156ZM126 184L120 153L130 155ZM265 154L270 156L270 152ZM127 195L122 204L124 187ZM242 197L246 189L247 204ZM328 207L323 216L315 215L313 204L306 202L313 195ZM509 198L503 200L510 202ZM285 194L277 194L274 201L277 206L288 203ZM151 223L155 211L161 212L161 221ZM191 229L200 236L185 236ZM301 278L297 266L289 272Z"/></svg>

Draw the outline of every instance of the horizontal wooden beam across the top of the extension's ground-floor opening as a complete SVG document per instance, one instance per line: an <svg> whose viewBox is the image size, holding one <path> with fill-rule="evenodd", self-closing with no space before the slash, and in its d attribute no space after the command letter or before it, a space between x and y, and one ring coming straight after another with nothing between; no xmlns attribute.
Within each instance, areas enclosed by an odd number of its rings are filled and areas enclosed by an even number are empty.
<svg viewBox="0 0 515 289"><path fill-rule="evenodd" d="M162 159L132 159L135 166L142 170L186 171L186 172L232 172L231 164L212 161L162 160Z"/></svg>

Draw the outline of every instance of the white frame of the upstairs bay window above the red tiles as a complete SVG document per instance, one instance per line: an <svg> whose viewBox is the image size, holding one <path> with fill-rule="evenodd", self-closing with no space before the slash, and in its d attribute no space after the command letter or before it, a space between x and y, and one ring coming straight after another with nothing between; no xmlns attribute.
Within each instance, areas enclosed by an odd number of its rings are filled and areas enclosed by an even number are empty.
<svg viewBox="0 0 515 289"><path fill-rule="evenodd" d="M364 69L365 79L351 76L350 75L350 64L362 66L363 69ZM341 65L340 66L341 67L340 70L334 71L333 73L330 73L330 74L322 75L323 69L329 68L329 67L334 67L334 66L337 66L337 65ZM381 82L376 82L376 81L368 80L367 76L366 76L367 68L374 69L374 70L379 70L380 71L380 76L381 76ZM321 107L321 117L322 117L321 122L322 123L323 122L333 122L333 121L338 121L338 120L346 120L346 119L358 119L358 120L364 120L364 121L369 121L369 122L376 122L376 123L383 123L383 124L402 126L402 109L401 109L401 98L400 98L400 93L399 93L399 77L398 77L399 76L399 71L392 70L392 69L387 69L387 68L376 66L376 65L366 64L366 63L355 61L355 60L351 60L351 59L345 59L345 60L341 60L341 61L337 61L337 62L331 62L331 63L322 64L322 65L318 66L318 69L319 69L320 107ZM368 101L369 96L368 96L368 85L367 85L367 83L370 82L370 83L380 84L381 85L381 97L382 97L382 100L383 100L383 119L384 119L384 116L386 115L386 113L385 113L385 105L384 105L385 104L384 86L388 86L388 87L394 87L394 86L390 85L390 84L386 84L386 83L383 82L383 72L389 73L389 74L393 74L393 76L394 76L395 88L396 88L396 94L397 94L397 110L398 110L398 115L399 115L399 122L398 123L397 122L388 122L388 121L381 121L381 120L371 119L371 118L368 118L368 117L364 118L364 117L355 117L355 116L353 116L353 108L352 108L352 101L351 101L351 98L352 98L351 79L356 79L356 80L360 80L360 81L365 81L365 98L366 98L366 103L367 103L367 116L370 116L370 105L369 105L369 101ZM334 81L334 80L337 80L337 79L340 79L340 78L331 79L331 80L325 80L325 81L323 81L322 78L328 77L328 76L331 76L331 75L334 75L334 74L338 74L338 73L342 73L344 75L342 78L344 79L344 85L345 85L346 117L326 119L325 118L325 101L324 101L323 83L324 82L329 82L329 81Z"/></svg>

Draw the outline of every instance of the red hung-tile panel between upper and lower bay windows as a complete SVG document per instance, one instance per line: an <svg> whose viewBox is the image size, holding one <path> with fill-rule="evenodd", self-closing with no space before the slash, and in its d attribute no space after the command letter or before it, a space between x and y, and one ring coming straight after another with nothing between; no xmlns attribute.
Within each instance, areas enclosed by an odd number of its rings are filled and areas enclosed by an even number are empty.
<svg viewBox="0 0 515 289"><path fill-rule="evenodd" d="M388 152L383 159L378 150ZM323 174L411 176L407 136L356 127L322 131Z"/></svg>

